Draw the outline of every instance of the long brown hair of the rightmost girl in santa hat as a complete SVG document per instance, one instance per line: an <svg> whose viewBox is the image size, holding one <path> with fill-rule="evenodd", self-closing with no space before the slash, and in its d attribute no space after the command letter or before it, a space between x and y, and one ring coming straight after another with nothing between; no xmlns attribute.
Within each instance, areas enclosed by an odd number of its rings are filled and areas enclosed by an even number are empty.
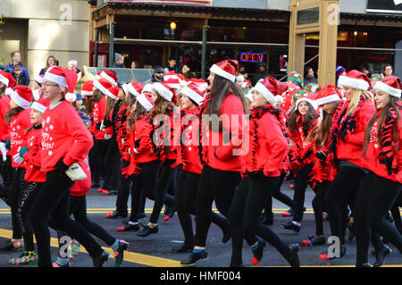
<svg viewBox="0 0 402 285"><path fill-rule="evenodd" d="M392 141L394 142L393 150L395 154L398 154L398 143L399 143L399 138L398 138L398 122L400 120L400 113L399 113L399 107L395 103L399 100L399 98L394 97L394 96L389 96L389 104L387 104L384 108L382 108L382 111L380 113L380 116L377 117L377 113L374 113L372 120L368 123L367 127L365 128L365 135L364 135L364 143L363 143L363 156L365 157L365 153L367 151L368 145L370 143L370 137L372 135L372 128L373 124L375 121L378 120L378 144L381 147L382 146L382 125L387 118L387 115L389 113L389 108L393 107L395 109L395 112L397 113L397 119L395 120L394 125L392 126Z"/></svg>

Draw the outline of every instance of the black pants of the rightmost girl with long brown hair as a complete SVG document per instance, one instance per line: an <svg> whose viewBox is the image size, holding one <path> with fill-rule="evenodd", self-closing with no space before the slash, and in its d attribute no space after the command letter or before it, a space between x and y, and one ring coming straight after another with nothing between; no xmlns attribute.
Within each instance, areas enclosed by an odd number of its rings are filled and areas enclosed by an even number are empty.
<svg viewBox="0 0 402 285"><path fill-rule="evenodd" d="M373 172L365 177L356 201L356 264L367 263L371 231L389 240L402 254L402 237L395 226L385 220L401 190L400 183Z"/></svg>

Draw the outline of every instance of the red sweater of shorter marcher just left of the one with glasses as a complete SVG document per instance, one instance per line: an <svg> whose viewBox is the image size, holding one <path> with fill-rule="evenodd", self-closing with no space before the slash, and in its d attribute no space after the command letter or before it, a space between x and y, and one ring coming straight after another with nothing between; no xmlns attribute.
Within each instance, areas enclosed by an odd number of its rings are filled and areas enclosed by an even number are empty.
<svg viewBox="0 0 402 285"><path fill-rule="evenodd" d="M29 152L24 155L26 170L24 179L27 182L45 182L46 172L40 171L41 163L41 141L42 141L42 126L39 129L32 129L27 133L28 140L24 144L28 147Z"/></svg>

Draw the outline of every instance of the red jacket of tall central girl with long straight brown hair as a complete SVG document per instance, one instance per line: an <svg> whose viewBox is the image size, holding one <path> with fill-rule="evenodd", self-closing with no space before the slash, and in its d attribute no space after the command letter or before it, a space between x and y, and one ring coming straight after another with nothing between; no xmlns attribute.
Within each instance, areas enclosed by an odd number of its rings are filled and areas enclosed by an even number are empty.
<svg viewBox="0 0 402 285"><path fill-rule="evenodd" d="M221 116L223 131L213 132L205 122L205 110L208 99L201 107L202 111L202 154L205 164L214 169L241 172L242 135L247 126L246 115L241 100L229 93L222 102ZM223 136L225 141L223 141ZM230 139L230 140L229 140ZM228 141L229 140L229 141Z"/></svg>

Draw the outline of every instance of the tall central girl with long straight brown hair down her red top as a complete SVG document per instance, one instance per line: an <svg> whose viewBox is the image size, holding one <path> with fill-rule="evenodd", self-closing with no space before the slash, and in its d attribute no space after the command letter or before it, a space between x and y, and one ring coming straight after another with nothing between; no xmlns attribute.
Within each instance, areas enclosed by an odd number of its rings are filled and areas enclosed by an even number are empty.
<svg viewBox="0 0 402 285"><path fill-rule="evenodd" d="M207 257L206 236L211 224L213 201L228 217L231 200L241 180L243 135L247 127L247 103L236 84L239 63L226 60L214 64L209 75L211 93L201 105L203 170L197 192L197 220L194 249L181 264L191 265Z"/></svg>

